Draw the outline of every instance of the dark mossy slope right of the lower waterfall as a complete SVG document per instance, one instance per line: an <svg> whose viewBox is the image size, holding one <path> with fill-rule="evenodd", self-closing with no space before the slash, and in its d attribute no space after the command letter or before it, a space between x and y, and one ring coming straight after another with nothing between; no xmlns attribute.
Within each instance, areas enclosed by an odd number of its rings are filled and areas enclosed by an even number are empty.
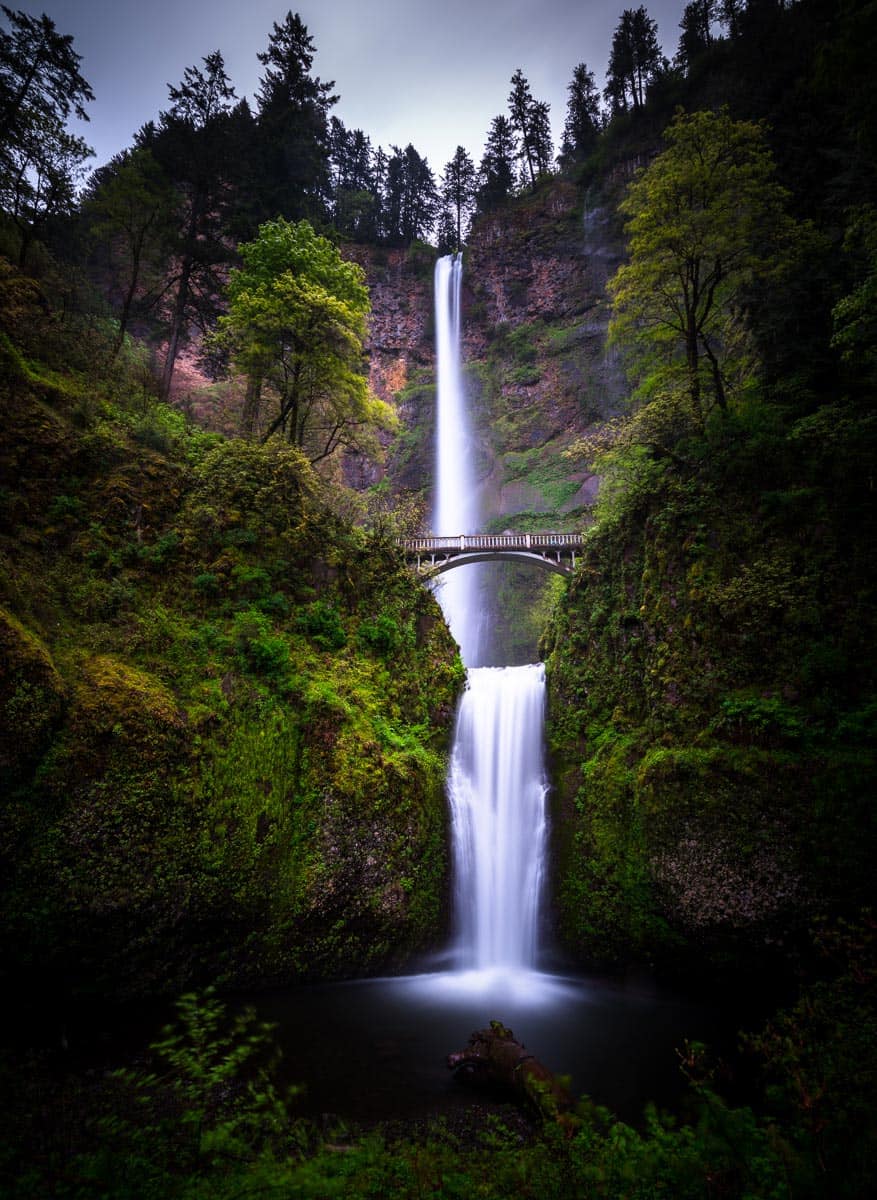
<svg viewBox="0 0 877 1200"><path fill-rule="evenodd" d="M872 895L866 410L617 463L548 638L557 904L603 958L762 953Z"/></svg>

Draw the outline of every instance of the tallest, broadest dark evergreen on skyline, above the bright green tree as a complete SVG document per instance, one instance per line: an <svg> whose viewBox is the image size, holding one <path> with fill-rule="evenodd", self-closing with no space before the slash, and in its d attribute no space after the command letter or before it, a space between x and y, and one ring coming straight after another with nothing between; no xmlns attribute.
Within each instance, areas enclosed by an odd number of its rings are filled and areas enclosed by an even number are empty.
<svg viewBox="0 0 877 1200"><path fill-rule="evenodd" d="M268 49L258 55L265 73L257 94L266 216L322 215L329 190L329 109L338 100L334 83L311 74L314 44L298 13L274 24Z"/></svg>

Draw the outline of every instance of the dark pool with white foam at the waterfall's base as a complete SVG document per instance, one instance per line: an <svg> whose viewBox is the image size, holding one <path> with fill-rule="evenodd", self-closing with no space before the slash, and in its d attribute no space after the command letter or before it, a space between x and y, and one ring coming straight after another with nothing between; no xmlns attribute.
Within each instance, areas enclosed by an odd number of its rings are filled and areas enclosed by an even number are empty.
<svg viewBox="0 0 877 1200"><path fill-rule="evenodd" d="M553 1072L626 1120L683 1091L677 1048L728 1043L715 1009L661 990L539 972L437 973L320 984L248 997L277 1025L283 1074L301 1111L354 1121L416 1118L471 1103L445 1066L491 1019Z"/></svg>

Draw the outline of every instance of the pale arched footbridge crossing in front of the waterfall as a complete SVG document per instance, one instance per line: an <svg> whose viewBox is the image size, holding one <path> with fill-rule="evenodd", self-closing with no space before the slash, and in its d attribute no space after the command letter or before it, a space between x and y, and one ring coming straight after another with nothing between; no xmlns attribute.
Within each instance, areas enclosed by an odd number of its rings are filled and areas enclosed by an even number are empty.
<svg viewBox="0 0 877 1200"><path fill-rule="evenodd" d="M582 550L581 533L476 533L456 538L400 538L406 559L432 577L465 563L535 563L571 575Z"/></svg>

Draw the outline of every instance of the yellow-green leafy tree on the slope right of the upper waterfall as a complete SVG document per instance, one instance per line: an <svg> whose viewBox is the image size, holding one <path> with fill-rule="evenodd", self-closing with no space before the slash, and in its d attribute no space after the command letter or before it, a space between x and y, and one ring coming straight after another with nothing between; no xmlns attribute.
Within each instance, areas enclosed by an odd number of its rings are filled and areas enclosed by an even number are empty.
<svg viewBox="0 0 877 1200"><path fill-rule="evenodd" d="M780 270L795 227L758 125L679 110L665 137L621 203L630 262L609 281L611 335L642 352L642 391L680 388L699 425L705 395L727 407L746 292Z"/></svg>

